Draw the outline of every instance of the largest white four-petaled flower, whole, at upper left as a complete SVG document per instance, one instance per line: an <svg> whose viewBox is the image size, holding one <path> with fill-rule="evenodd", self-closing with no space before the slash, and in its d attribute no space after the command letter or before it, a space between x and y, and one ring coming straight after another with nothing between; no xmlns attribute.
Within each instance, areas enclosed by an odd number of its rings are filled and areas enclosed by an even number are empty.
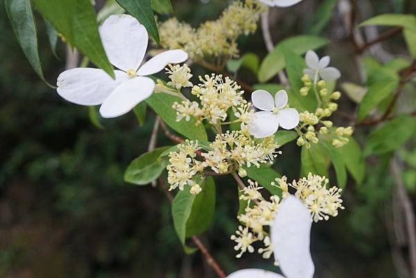
<svg viewBox="0 0 416 278"><path fill-rule="evenodd" d="M188 54L170 50L143 64L148 46L146 28L130 15L112 15L100 27L101 40L115 70L113 80L102 69L76 68L58 76L58 94L71 103L100 105L104 118L121 116L148 98L155 82L146 76L162 71L167 64L184 62Z"/></svg>

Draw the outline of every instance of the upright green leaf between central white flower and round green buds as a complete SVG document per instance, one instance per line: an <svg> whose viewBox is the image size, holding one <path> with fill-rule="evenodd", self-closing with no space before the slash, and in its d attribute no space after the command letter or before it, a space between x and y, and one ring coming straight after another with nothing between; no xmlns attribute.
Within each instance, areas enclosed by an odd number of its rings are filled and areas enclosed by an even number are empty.
<svg viewBox="0 0 416 278"><path fill-rule="evenodd" d="M286 46L282 46L281 51L284 53L286 73L288 74L288 79L292 87L288 92L289 105L299 111L315 111L318 105L315 94L309 92L307 96L300 95L300 88L303 87L301 78L303 76L303 70L306 69L304 59L290 49L287 49Z"/></svg>

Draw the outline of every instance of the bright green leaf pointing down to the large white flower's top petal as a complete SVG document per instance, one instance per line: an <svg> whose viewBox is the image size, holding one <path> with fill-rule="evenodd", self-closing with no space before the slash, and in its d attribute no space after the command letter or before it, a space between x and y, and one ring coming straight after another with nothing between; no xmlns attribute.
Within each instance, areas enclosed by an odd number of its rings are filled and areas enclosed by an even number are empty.
<svg viewBox="0 0 416 278"><path fill-rule="evenodd" d="M53 27L87 56L94 64L114 78L113 67L101 44L96 13L89 0L33 0L37 10Z"/></svg>

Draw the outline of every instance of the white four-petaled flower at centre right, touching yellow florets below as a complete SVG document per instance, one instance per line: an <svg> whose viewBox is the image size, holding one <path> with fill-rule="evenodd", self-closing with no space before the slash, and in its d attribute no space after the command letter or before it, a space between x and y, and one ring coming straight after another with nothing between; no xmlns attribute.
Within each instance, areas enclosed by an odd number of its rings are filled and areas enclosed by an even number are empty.
<svg viewBox="0 0 416 278"><path fill-rule="evenodd" d="M285 90L280 90L273 98L269 92L258 89L252 93L252 103L264 110L254 113L254 119L248 125L248 131L256 138L275 134L279 125L291 130L299 123L299 113L294 108L284 108L288 104Z"/></svg>

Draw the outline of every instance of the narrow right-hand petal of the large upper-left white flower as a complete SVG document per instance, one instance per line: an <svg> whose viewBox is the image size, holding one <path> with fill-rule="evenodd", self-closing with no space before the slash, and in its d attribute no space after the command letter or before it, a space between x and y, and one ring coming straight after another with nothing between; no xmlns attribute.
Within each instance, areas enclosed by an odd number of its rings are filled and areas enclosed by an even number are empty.
<svg viewBox="0 0 416 278"><path fill-rule="evenodd" d="M150 76L150 74L162 71L167 64L179 64L187 59L188 53L181 49L164 51L144 63L137 71L137 74L139 76Z"/></svg>

